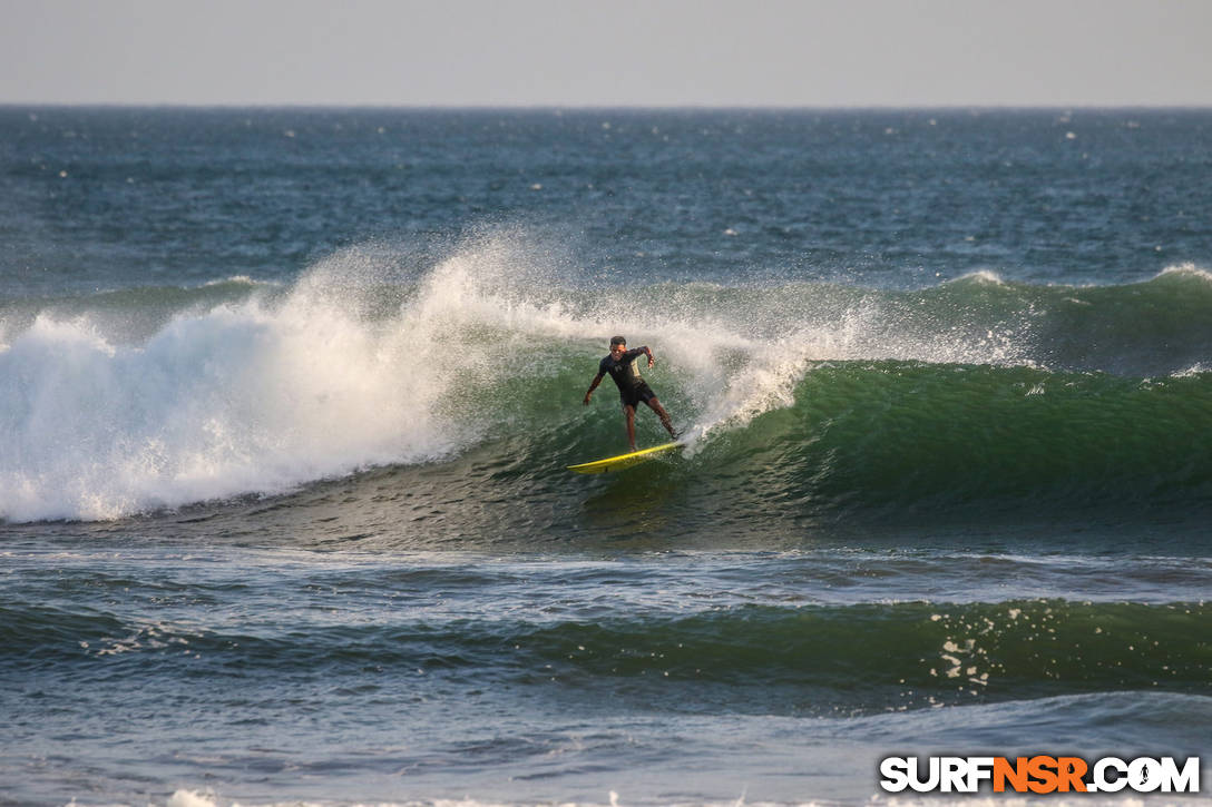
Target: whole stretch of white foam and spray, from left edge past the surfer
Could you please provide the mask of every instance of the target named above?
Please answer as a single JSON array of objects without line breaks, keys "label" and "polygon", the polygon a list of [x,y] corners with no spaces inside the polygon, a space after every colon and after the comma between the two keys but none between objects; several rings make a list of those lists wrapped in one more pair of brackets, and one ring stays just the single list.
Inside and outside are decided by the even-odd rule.
[{"label": "whole stretch of white foam and spray, from left edge past the surfer", "polygon": [[[745,304],[709,286],[573,292],[516,233],[469,242],[384,310],[384,288],[401,286],[381,246],[337,253],[288,291],[182,313],[142,343],[88,317],[0,334],[0,519],[110,520],[447,458],[493,428],[497,384],[558,372],[542,355],[555,345],[604,354],[614,333],[657,353],[646,376],[667,404],[680,391],[670,413],[692,439],[790,406],[819,361],[1016,349],[1013,333],[907,336],[875,296],[835,309],[811,287]],[[587,384],[594,370],[587,359]],[[553,406],[579,410],[582,390]]]}]

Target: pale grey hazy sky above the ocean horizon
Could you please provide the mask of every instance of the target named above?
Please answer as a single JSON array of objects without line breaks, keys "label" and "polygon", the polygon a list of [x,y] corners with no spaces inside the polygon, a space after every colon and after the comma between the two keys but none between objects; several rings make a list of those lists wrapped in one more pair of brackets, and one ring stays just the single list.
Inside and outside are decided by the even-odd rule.
[{"label": "pale grey hazy sky above the ocean horizon", "polygon": [[0,0],[0,103],[1212,105],[1210,0]]}]

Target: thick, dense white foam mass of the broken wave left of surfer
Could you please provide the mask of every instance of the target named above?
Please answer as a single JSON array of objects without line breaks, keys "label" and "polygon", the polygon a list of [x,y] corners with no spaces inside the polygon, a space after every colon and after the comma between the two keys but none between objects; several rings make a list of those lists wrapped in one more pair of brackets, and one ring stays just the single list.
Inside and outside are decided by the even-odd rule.
[{"label": "thick, dense white foam mass of the broken wave left of surfer", "polygon": [[458,291],[435,273],[375,320],[336,275],[326,265],[275,303],[182,314],[137,347],[87,317],[10,334],[0,517],[108,520],[467,446],[475,429],[441,405],[492,367],[445,338]]}]

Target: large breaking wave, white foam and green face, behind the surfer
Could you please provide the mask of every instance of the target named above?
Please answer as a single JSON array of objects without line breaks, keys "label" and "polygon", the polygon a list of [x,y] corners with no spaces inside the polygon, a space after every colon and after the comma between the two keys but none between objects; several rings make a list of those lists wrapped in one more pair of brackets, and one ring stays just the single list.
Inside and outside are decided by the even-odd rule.
[{"label": "large breaking wave, white foam and green face, behind the surfer", "polygon": [[550,482],[551,457],[617,447],[613,408],[576,406],[613,333],[657,351],[688,459],[724,481],[760,463],[765,498],[810,510],[1208,486],[1212,281],[1194,265],[1082,288],[665,284],[623,304],[516,234],[405,277],[390,261],[354,248],[288,288],[5,302],[0,519],[112,520],[473,451]]}]

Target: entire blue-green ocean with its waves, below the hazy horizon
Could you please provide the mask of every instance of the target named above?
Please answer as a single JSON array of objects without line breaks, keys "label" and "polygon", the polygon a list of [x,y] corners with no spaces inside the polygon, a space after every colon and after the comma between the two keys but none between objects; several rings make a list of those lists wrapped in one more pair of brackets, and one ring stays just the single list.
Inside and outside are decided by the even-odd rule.
[{"label": "entire blue-green ocean with its waves, below the hazy horizon", "polygon": [[6,107],[0,245],[0,803],[1212,801],[1212,111]]}]

